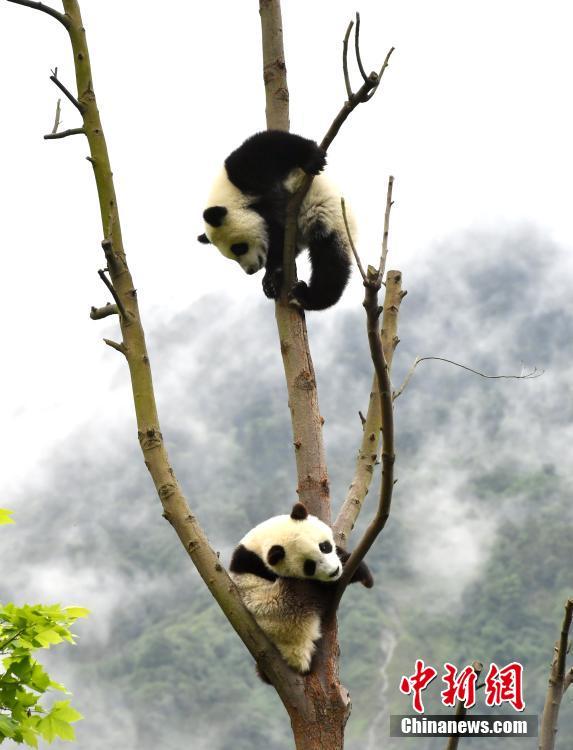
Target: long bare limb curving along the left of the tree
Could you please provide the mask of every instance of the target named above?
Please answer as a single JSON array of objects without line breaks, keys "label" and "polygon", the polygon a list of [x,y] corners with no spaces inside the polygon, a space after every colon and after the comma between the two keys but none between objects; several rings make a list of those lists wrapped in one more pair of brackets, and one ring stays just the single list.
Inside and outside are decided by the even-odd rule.
[{"label": "long bare limb curving along the left of the tree", "polygon": [[[20,2],[20,4],[26,4],[30,7],[39,5],[23,2]],[[264,673],[276,685],[285,706],[291,710],[293,707],[300,707],[301,710],[304,710],[302,678],[286,665],[275,646],[244,606],[238,590],[221,565],[217,553],[210,546],[203,529],[191,513],[170,465],[159,425],[149,356],[139,314],[137,295],[123,247],[115,186],[93,90],[90,56],[80,7],[77,0],[63,0],[63,5],[66,14],[64,25],[68,30],[72,44],[78,90],[78,99],[75,100],[75,97],[72,96],[72,101],[77,101],[79,105],[78,108],[82,114],[90,147],[89,159],[96,180],[104,243],[110,244],[116,259],[116,262],[108,265],[114,299],[120,312],[122,312],[122,308],[125,310],[125,314],[122,312],[119,318],[123,344],[116,344],[116,342],[109,340],[106,343],[120,351],[122,351],[122,347],[124,348],[122,353],[125,354],[129,366],[138,437],[145,464],[161,500],[165,518],[175,529],[181,543],[227,619],[255,660],[261,665]],[[43,7],[38,7],[38,9],[45,10]],[[46,12],[48,11],[46,10]],[[55,12],[51,15],[55,15]],[[61,20],[59,16],[56,17]]]}]

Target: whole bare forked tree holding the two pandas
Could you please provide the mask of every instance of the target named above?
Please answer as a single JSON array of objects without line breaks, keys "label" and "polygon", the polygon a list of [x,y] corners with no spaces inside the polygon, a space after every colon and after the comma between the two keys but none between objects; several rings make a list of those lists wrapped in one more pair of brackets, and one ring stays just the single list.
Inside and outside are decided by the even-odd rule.
[{"label": "whole bare forked tree holding the two pandas", "polygon": [[[175,473],[169,463],[159,424],[149,357],[139,315],[135,284],[126,260],[123,247],[120,216],[107,146],[101,124],[93,86],[89,50],[77,0],[63,0],[63,13],[39,2],[8,0],[51,16],[67,30],[74,56],[77,96],[59,79],[57,70],[51,76],[53,83],[73,103],[81,119],[81,127],[58,132],[58,113],[54,131],[46,139],[60,139],[75,135],[87,138],[96,181],[103,241],[102,248],[106,268],[98,273],[113,298],[113,304],[92,308],[92,318],[100,319],[112,314],[119,318],[122,341],[106,340],[106,344],[121,353],[127,361],[133,387],[134,405],[138,424],[138,436],[146,466],[151,474],[163,504],[163,515],[171,523],[187,550],[211,594],[235,628],[253,657],[259,663],[277,690],[291,718],[295,741],[299,748],[314,748],[328,745],[342,747],[344,725],[350,713],[347,691],[338,681],[338,642],[336,634],[336,608],[344,593],[353,570],[360,563],[377,535],[383,528],[390,510],[393,489],[393,429],[392,394],[389,380],[389,365],[397,344],[396,319],[400,301],[401,274],[389,272],[384,302],[384,345],[380,337],[379,317],[382,308],[378,305],[387,252],[388,219],[391,205],[391,183],[388,193],[384,252],[378,269],[368,268],[363,272],[365,283],[365,307],[370,349],[373,357],[375,378],[370,408],[364,425],[363,449],[357,465],[352,493],[344,503],[340,517],[334,524],[337,538],[347,540],[360,512],[362,501],[368,491],[368,477],[379,451],[379,440],[384,424],[382,463],[383,480],[379,507],[374,521],[351,555],[336,590],[333,605],[324,623],[324,638],[321,642],[317,666],[313,673],[303,679],[293,673],[282,661],[277,650],[258,628],[243,606],[235,587],[211,548],[197,519],[191,512]],[[261,0],[264,78],[267,97],[267,124],[269,127],[288,128],[288,88],[286,66],[282,45],[280,3],[277,0]],[[360,19],[356,18],[355,50],[362,75],[362,85],[353,92],[348,74],[348,41],[351,23],[344,39],[343,70],[348,99],[333,121],[322,141],[327,149],[338,130],[358,104],[367,102],[376,92],[392,50],[379,73],[367,75],[362,65],[359,47]],[[289,221],[285,235],[285,283],[281,299],[276,304],[276,319],[280,339],[285,377],[289,393],[292,418],[293,443],[295,448],[298,494],[310,512],[330,522],[330,497],[328,473],[322,442],[322,418],[318,407],[318,395],[314,378],[312,358],[304,315],[288,304],[287,291],[295,279],[294,246],[296,216],[306,190],[306,180],[289,206]]]}]

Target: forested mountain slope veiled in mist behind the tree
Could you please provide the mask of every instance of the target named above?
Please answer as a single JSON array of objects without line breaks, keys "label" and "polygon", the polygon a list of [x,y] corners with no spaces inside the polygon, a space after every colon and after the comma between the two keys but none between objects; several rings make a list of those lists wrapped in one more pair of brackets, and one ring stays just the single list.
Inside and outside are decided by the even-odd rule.
[{"label": "forested mountain slope veiled in mist behind the tree", "polygon": [[[492,380],[428,361],[396,401],[399,481],[369,558],[376,585],[353,587],[341,611],[351,749],[380,747],[388,713],[409,712],[398,684],[416,658],[436,667],[517,659],[526,713],[541,710],[572,593],[572,280],[564,251],[531,228],[453,238],[404,279],[395,387],[418,355],[492,375],[544,372]],[[308,316],[336,508],[372,378],[360,302]],[[172,463],[225,561],[249,528],[294,499],[273,313],[262,295],[248,303],[210,296],[148,328]],[[127,368],[115,366],[110,403],[131,398]],[[86,717],[78,747],[291,747],[278,699],[161,516],[133,418],[99,414],[32,468],[18,497],[1,503],[17,525],[2,532],[0,598],[91,609],[76,627],[78,645],[48,654]],[[427,698],[436,711],[439,689]],[[571,731],[565,704],[560,734]]]}]

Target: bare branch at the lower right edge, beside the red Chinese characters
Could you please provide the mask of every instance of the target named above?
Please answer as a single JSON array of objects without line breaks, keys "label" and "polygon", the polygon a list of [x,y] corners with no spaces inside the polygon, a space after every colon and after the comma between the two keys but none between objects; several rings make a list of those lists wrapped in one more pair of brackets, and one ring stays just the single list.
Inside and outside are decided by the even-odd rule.
[{"label": "bare branch at the lower right edge, beside the red Chinese characters", "polygon": [[565,603],[565,615],[561,624],[561,634],[559,641],[555,644],[553,660],[551,661],[549,683],[539,729],[539,750],[554,750],[561,700],[565,690],[569,687],[573,679],[573,670],[565,676],[565,660],[572,620],[573,599],[569,599]]}]

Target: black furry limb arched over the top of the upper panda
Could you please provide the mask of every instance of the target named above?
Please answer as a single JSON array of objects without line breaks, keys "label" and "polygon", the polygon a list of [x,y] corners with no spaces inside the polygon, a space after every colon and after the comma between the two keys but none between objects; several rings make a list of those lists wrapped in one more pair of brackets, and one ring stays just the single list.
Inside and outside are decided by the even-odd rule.
[{"label": "black furry limb arched over the top of the upper panda", "polygon": [[225,160],[231,182],[252,195],[266,195],[297,167],[318,174],[326,154],[308,138],[282,130],[265,130],[247,138]]}]

